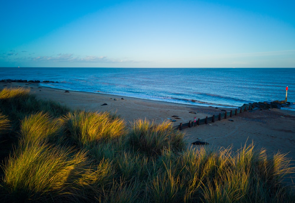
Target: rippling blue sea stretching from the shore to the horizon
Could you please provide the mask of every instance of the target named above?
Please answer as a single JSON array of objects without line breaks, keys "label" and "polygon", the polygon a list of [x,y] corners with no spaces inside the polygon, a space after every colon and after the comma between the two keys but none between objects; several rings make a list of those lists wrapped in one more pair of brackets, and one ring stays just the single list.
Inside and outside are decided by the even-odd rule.
[{"label": "rippling blue sea stretching from the shore to the horizon", "polygon": [[[57,89],[213,107],[286,99],[295,68],[0,68],[1,79],[54,81]],[[56,83],[58,82],[58,83]]]}]

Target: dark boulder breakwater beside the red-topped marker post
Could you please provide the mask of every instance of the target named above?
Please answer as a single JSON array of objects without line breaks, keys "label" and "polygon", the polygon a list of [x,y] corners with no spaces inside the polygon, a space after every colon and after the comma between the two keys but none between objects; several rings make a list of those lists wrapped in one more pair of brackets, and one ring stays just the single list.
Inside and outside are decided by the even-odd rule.
[{"label": "dark boulder breakwater beside the red-topped marker post", "polygon": [[[254,102],[249,104],[244,104],[242,107],[251,106],[252,110],[261,110],[261,109],[281,109],[281,107],[289,107],[290,102],[282,101],[273,101],[273,102]],[[241,108],[242,108],[241,107]]]}]

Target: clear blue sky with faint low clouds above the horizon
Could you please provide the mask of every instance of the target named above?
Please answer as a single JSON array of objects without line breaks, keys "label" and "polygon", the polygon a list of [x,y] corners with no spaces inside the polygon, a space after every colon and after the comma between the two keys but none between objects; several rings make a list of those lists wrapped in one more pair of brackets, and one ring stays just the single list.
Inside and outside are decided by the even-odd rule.
[{"label": "clear blue sky with faint low clouds above the horizon", "polygon": [[295,1],[2,1],[0,67],[295,67]]}]

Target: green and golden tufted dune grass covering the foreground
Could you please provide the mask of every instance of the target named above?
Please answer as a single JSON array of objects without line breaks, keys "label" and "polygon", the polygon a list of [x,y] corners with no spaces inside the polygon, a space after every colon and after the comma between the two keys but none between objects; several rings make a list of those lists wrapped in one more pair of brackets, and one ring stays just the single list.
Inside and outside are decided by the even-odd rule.
[{"label": "green and golden tufted dune grass covering the foreground", "polygon": [[295,202],[294,162],[253,143],[196,150],[171,123],[126,125],[27,89],[1,90],[0,109],[1,202]]}]

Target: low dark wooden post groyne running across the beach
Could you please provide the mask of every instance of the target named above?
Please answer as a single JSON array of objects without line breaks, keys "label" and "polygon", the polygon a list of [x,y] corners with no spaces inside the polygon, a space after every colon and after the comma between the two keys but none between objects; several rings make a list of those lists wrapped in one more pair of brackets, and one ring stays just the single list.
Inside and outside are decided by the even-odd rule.
[{"label": "low dark wooden post groyne running across the beach", "polygon": [[206,116],[206,118],[203,118],[203,119],[195,118],[194,120],[189,121],[188,123],[180,123],[180,125],[175,126],[175,128],[178,130],[182,130],[188,127],[196,127],[202,124],[214,123],[216,121],[220,121],[221,119],[227,119],[234,115],[236,116],[237,114],[242,113],[244,111],[251,110],[252,108],[254,107],[251,105],[246,105],[246,106],[239,107],[238,109],[235,109],[235,110],[225,111],[225,112],[219,113],[218,115],[212,115],[211,117]]}]

